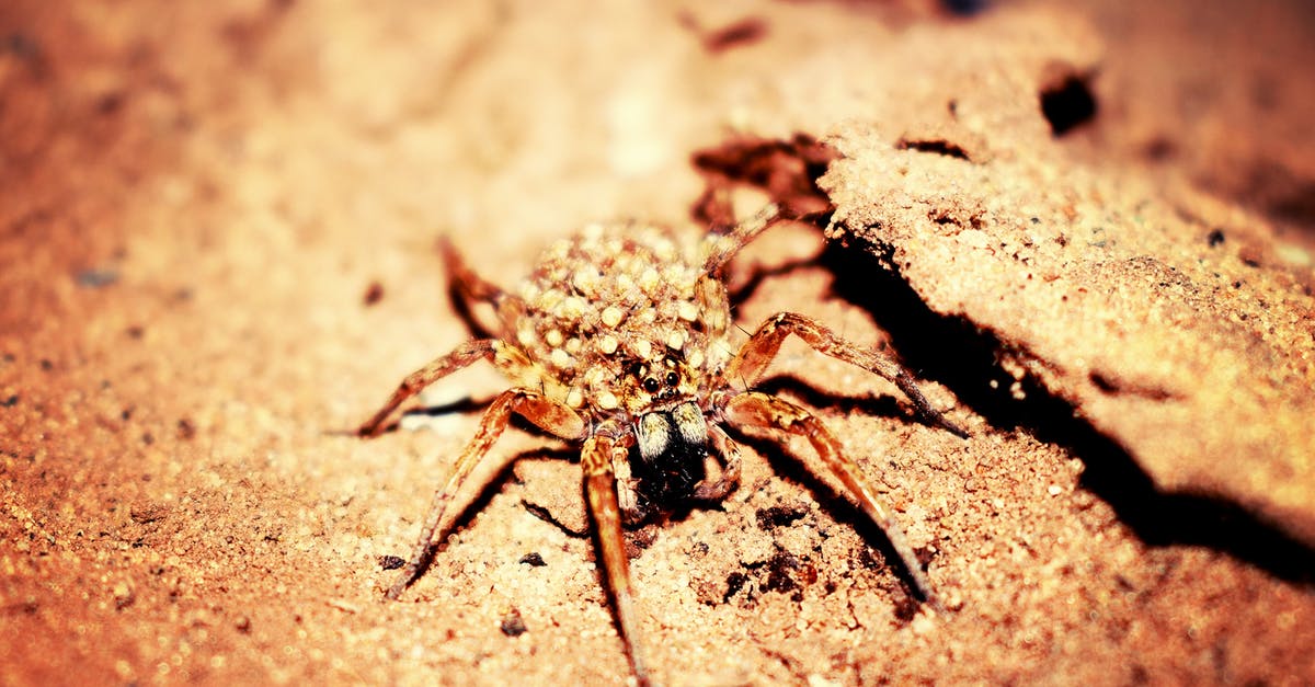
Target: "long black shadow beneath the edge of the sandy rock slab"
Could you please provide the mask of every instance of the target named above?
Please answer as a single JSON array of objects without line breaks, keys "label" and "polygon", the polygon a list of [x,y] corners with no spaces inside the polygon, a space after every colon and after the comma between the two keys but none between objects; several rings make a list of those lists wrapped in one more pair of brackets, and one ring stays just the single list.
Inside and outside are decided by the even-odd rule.
[{"label": "long black shadow beneath the edge of the sandy rock slab", "polygon": [[1014,397],[1015,380],[997,359],[1007,346],[968,320],[932,312],[899,275],[889,246],[828,243],[822,262],[835,276],[834,293],[872,316],[915,376],[943,383],[992,426],[1066,447],[1086,466],[1081,486],[1145,544],[1207,546],[1279,579],[1315,584],[1315,549],[1231,500],[1159,490],[1123,446],[1036,379],[1023,379],[1023,397]]}]

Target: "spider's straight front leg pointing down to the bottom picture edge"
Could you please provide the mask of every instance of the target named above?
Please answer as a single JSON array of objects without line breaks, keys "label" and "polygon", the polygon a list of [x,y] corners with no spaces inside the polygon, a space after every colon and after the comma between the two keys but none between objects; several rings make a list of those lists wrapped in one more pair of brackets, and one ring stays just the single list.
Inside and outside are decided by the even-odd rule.
[{"label": "spider's straight front leg pointing down to the bottom picture edge", "polygon": [[598,534],[598,549],[602,553],[602,567],[608,575],[608,587],[621,625],[622,644],[630,667],[640,686],[650,684],[648,670],[642,657],[643,640],[639,634],[639,619],[634,608],[634,587],[630,583],[630,559],[626,557],[625,540],[621,534],[621,509],[617,505],[617,480],[611,463],[626,447],[610,437],[596,434],[584,442],[580,466],[584,469],[584,487],[589,500],[589,513],[593,516],[594,530]]}]

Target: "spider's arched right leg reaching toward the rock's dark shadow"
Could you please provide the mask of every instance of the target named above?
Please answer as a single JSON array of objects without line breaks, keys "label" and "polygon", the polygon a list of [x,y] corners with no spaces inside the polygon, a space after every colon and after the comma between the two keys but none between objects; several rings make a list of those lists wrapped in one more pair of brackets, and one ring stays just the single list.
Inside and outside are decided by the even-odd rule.
[{"label": "spider's arched right leg reaching toward the rock's dark shadow", "polygon": [[918,388],[913,375],[902,365],[872,349],[840,338],[811,317],[793,312],[781,312],[768,317],[740,347],[727,366],[723,378],[729,382],[743,382],[747,388],[752,388],[781,350],[781,342],[790,334],[802,338],[818,353],[856,365],[894,382],[928,422],[940,425],[960,438],[968,438],[968,432],[947,420],[940,411],[931,405],[931,401]]}]

